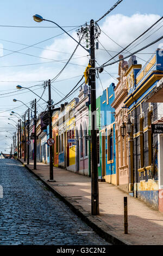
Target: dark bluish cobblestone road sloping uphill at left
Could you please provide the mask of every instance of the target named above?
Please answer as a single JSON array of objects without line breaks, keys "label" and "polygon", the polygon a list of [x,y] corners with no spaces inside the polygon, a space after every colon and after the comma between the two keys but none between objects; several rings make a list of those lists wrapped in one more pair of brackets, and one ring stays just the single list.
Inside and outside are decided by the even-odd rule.
[{"label": "dark bluish cobblestone road sloping uphill at left", "polygon": [[0,159],[0,185],[0,245],[109,245],[16,160]]}]

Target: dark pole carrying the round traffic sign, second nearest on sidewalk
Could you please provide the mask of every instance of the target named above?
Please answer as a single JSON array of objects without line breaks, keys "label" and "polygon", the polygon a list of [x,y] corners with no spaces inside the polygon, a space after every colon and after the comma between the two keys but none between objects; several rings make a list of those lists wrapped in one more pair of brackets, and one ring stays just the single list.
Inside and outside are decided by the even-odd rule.
[{"label": "dark pole carrying the round traffic sign, second nearest on sidewalk", "polygon": [[[49,92],[49,100],[48,100],[48,108],[49,108],[49,138],[52,138],[52,98],[51,98],[51,80],[48,80],[48,92]],[[50,155],[50,163],[49,163],[49,180],[54,182],[53,180],[53,147],[49,146],[49,155]]]}]

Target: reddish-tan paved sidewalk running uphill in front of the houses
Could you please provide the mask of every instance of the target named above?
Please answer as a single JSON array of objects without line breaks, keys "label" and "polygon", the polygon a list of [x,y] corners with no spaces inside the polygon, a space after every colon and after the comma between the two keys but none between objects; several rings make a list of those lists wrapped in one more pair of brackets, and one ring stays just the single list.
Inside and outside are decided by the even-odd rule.
[{"label": "reddish-tan paved sidewalk running uphill in front of the houses", "polygon": [[[56,182],[47,182],[49,165],[37,163],[37,170],[33,170],[33,163],[30,162],[28,168],[65,200],[71,202],[77,210],[83,212],[92,225],[97,224],[98,230],[108,232],[110,240],[115,236],[122,240],[122,243],[125,241],[131,245],[163,245],[163,213],[146,206],[139,199],[130,197],[112,184],[99,182],[100,215],[91,216],[90,177],[54,167]],[[129,231],[127,235],[124,234],[123,228],[123,197],[126,196]]]}]

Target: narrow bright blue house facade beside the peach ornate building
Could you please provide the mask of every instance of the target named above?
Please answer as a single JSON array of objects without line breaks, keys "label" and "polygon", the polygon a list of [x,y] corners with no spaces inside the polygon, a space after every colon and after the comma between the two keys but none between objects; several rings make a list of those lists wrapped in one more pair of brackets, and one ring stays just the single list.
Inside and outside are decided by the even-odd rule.
[{"label": "narrow bright blue house facade beside the peach ornate building", "polygon": [[115,112],[111,107],[115,99],[114,88],[115,85],[110,84],[100,97],[99,164],[101,165],[101,178],[104,178],[106,182],[116,184]]}]

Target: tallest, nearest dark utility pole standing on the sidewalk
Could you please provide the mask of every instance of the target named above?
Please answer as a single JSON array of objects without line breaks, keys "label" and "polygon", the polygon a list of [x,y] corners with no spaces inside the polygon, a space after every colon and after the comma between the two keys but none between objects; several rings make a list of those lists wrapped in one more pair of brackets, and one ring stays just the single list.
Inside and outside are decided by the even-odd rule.
[{"label": "tallest, nearest dark utility pole standing on the sidewalk", "polygon": [[[91,68],[95,68],[95,24],[90,21]],[[91,214],[99,215],[97,126],[96,126],[96,70],[91,70]]]}]

